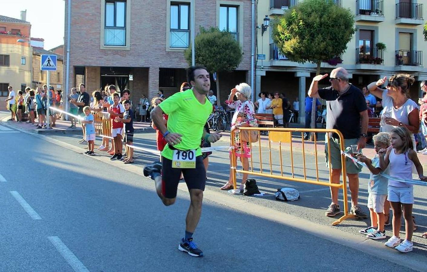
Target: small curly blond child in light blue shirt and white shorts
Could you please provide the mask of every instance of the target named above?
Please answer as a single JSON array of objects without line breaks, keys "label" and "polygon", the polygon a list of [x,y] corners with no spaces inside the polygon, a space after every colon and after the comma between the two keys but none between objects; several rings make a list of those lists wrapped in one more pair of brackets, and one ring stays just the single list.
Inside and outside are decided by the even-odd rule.
[{"label": "small curly blond child in light blue shirt and white shorts", "polygon": [[[377,155],[371,160],[360,154],[358,160],[364,162],[371,171],[368,184],[368,208],[371,215],[371,226],[366,229],[361,229],[359,232],[365,234],[370,239],[386,239],[386,231],[384,230],[384,202],[387,198],[387,184],[389,179],[380,175],[380,158],[378,151],[387,149],[390,146],[389,133],[380,132],[373,137],[374,148]],[[384,174],[389,174],[389,168],[384,171]]]}]

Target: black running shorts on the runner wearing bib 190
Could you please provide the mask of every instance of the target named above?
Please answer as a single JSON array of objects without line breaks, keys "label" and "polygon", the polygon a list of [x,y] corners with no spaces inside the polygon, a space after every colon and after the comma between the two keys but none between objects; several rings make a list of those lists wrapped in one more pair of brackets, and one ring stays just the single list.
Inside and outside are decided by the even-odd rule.
[{"label": "black running shorts on the runner wearing bib 190", "polygon": [[188,190],[205,190],[206,169],[202,156],[196,157],[196,168],[172,168],[172,160],[162,157],[162,193],[166,198],[175,198],[181,172]]}]

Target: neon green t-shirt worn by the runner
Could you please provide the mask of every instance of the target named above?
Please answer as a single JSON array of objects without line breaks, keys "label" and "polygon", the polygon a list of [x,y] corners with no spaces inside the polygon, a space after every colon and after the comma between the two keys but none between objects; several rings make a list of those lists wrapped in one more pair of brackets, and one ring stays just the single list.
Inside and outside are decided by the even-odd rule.
[{"label": "neon green t-shirt worn by the runner", "polygon": [[[208,98],[205,104],[200,104],[193,90],[175,93],[159,104],[159,107],[168,115],[167,130],[170,133],[181,134],[181,142],[173,147],[179,150],[196,149],[196,156],[201,156],[200,143],[203,127],[212,113],[212,104]],[[166,145],[162,156],[173,158],[173,150]]]}]

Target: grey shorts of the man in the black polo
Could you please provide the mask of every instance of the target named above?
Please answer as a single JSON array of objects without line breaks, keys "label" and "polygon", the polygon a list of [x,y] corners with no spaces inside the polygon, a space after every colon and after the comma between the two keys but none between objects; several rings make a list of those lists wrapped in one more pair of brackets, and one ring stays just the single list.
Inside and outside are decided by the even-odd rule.
[{"label": "grey shorts of the man in the black polo", "polygon": [[[328,165],[328,141],[330,142],[330,164],[332,169],[341,169],[341,148],[339,146],[339,139],[325,137],[325,155],[326,155],[326,164]],[[359,139],[344,139],[344,150],[351,145],[357,145]],[[345,159],[345,170],[347,174],[359,174],[362,171],[362,166],[354,165],[354,162],[351,159]]]}]

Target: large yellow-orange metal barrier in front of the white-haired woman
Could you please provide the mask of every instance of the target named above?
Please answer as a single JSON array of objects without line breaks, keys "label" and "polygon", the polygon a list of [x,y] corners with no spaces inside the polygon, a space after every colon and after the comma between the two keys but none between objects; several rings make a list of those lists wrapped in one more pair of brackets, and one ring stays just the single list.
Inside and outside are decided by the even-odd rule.
[{"label": "large yellow-orange metal barrier in front of the white-haired woman", "polygon": [[[319,166],[318,166],[318,159],[317,159],[317,139],[316,139],[316,133],[336,133],[339,136],[340,140],[340,149],[344,151],[345,147],[343,144],[344,137],[342,136],[342,133],[339,130],[335,129],[308,129],[308,128],[268,128],[268,127],[239,127],[240,131],[248,130],[249,134],[250,132],[256,132],[258,134],[258,140],[255,143],[259,146],[259,171],[254,171],[254,156],[252,152],[252,141],[251,137],[249,137],[249,144],[248,147],[251,149],[250,157],[250,171],[248,170],[238,170],[237,164],[235,162],[237,161],[236,153],[231,152],[232,156],[232,162],[231,162],[231,169],[232,169],[232,176],[233,176],[233,186],[234,189],[237,189],[236,185],[236,174],[250,174],[250,175],[256,175],[260,177],[268,177],[268,178],[275,178],[275,179],[282,179],[282,180],[289,180],[289,181],[295,181],[295,182],[304,182],[309,184],[315,184],[315,185],[322,185],[322,186],[329,186],[330,188],[339,188],[342,189],[343,192],[343,202],[344,202],[344,215],[340,217],[338,220],[334,221],[332,225],[337,225],[341,223],[343,220],[346,220],[348,218],[354,218],[355,216],[348,213],[348,195],[347,195],[347,172],[345,169],[345,156],[344,154],[341,154],[341,173],[342,173],[342,183],[331,183],[331,177],[332,177],[332,169],[330,164],[330,141],[328,141],[328,168],[329,168],[329,182],[324,182],[319,180]],[[238,130],[237,130],[238,131]],[[268,131],[269,133],[269,140],[268,140],[268,151],[269,151],[269,171],[263,170],[263,162],[262,162],[262,151],[266,151],[265,148],[261,150],[261,131]],[[294,169],[294,158],[293,158],[293,146],[292,146],[292,133],[301,133],[301,141],[302,141],[302,163],[303,163],[303,176],[304,178],[295,177],[295,169]],[[314,156],[315,156],[315,165],[316,165],[316,179],[309,179],[307,177],[306,173],[306,151],[304,149],[304,133],[310,133],[314,132]],[[239,133],[239,132],[237,132]],[[235,145],[235,135],[236,130],[231,132],[231,146]],[[240,152],[243,153],[243,142],[241,137],[240,138]],[[280,174],[275,174],[273,172],[273,165],[272,165],[272,142],[278,143],[278,152],[280,155]],[[290,145],[290,168],[291,171],[288,175],[284,173],[283,171],[283,160],[282,160],[282,144],[287,143]],[[322,144],[323,145],[323,144]],[[277,162],[277,161],[276,161]],[[266,163],[264,163],[265,165]],[[289,165],[286,165],[289,166]]]}]

